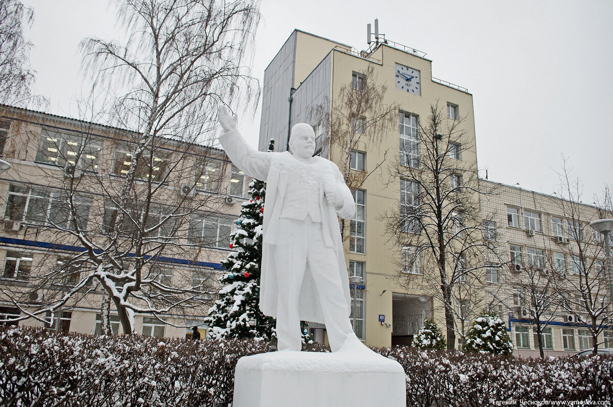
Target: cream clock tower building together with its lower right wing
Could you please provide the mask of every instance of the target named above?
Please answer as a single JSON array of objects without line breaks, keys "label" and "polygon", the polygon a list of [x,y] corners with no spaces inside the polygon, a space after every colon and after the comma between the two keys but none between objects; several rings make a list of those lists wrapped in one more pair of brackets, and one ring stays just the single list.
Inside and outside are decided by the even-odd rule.
[{"label": "cream clock tower building together with its lower right wing", "polygon": [[[368,81],[373,81],[376,86],[386,86],[381,104],[397,107],[394,113],[397,124],[383,135],[375,136],[364,131],[364,137],[352,146],[351,160],[347,161],[341,143],[330,142],[333,118],[328,126],[322,126],[321,115],[314,114],[314,110],[327,112],[330,116],[342,115],[343,94],[346,95],[348,89],[356,93],[363,91],[367,73]],[[351,173],[368,174],[358,188],[353,188],[357,213],[350,221],[345,250],[348,273],[357,280],[362,278],[351,291],[354,330],[369,345],[410,343],[424,318],[431,316],[440,327],[445,325],[443,303],[440,297],[432,294],[432,287],[425,290],[420,289],[419,284],[402,281],[403,271],[406,275],[424,275],[428,270],[419,270],[421,266],[417,262],[407,267],[399,256],[402,257],[402,251],[410,248],[402,248],[399,253],[399,248],[393,247],[384,221],[385,215],[394,213],[401,201],[410,202],[418,192],[410,179],[394,177],[389,169],[412,167],[412,163],[424,158],[424,149],[429,145],[425,143],[419,124],[427,121],[433,105],[438,105],[443,112],[443,121],[457,126],[457,134],[461,135],[454,140],[453,146],[447,146],[446,155],[457,163],[455,167],[467,170],[466,178],[469,175],[474,177],[477,155],[472,95],[465,88],[432,77],[432,61],[421,51],[383,37],[373,42],[368,50],[357,51],[349,45],[295,30],[264,73],[259,135],[261,150],[265,150],[270,139],[275,139],[278,151],[287,150],[291,127],[295,123],[308,123],[318,137],[316,154],[334,161],[341,172],[349,164]],[[351,120],[350,115],[345,117]],[[357,118],[357,131],[354,129],[354,132],[360,132],[359,123],[364,126],[369,119],[365,116]],[[462,191],[462,173],[452,174],[449,179],[451,189]],[[480,311],[497,312],[509,323],[516,353],[533,354],[535,347],[530,318],[521,315],[527,312],[522,306],[524,297],[513,294],[514,281],[521,281],[522,275],[516,269],[511,272],[509,264],[516,267],[517,256],[521,256],[526,264],[530,264],[531,270],[536,270],[538,262],[541,259],[544,262],[547,257],[546,252],[549,257],[553,256],[554,262],[562,262],[562,251],[556,248],[573,246],[572,239],[567,243],[568,235],[563,236],[561,232],[568,230],[569,215],[560,210],[564,207],[563,200],[555,197],[477,180],[476,177],[473,180],[472,188],[480,188],[480,181],[483,191],[488,191],[487,196],[480,199],[475,193],[472,199],[479,218],[476,220],[480,223],[487,219],[479,235],[482,232],[494,250],[487,258],[476,259],[482,262],[481,268],[476,268],[481,270],[480,275],[472,273],[476,284],[473,291],[477,292],[471,298],[454,303],[454,312],[465,318],[463,325],[466,329]],[[470,192],[465,188],[463,193]],[[582,213],[583,226],[588,219],[602,216],[596,208],[588,205],[577,208]],[[505,216],[508,216],[509,224]],[[457,226],[462,227],[462,221]],[[573,256],[569,251],[563,257],[568,267],[573,264]],[[600,254],[596,257],[599,256],[603,257]],[[459,256],[456,267],[461,263]],[[542,267],[539,273],[546,273],[546,270],[551,268]],[[470,283],[461,275],[458,281]],[[572,280],[567,282],[572,283]],[[560,281],[555,285],[558,289],[562,287]],[[548,289],[554,291],[553,286]],[[601,292],[607,292],[606,286]],[[474,304],[468,306],[465,301]],[[584,349],[590,343],[585,329],[580,327],[581,322],[575,323],[576,318],[583,315],[579,310],[579,300],[567,302],[565,306],[572,306],[574,310],[554,310],[552,304],[547,312],[542,313],[542,318],[545,318],[543,342],[550,354]],[[316,327],[316,338],[321,329]],[[598,340],[606,340],[611,346],[610,335],[611,331],[606,330]],[[461,346],[460,341],[456,346]]]}]

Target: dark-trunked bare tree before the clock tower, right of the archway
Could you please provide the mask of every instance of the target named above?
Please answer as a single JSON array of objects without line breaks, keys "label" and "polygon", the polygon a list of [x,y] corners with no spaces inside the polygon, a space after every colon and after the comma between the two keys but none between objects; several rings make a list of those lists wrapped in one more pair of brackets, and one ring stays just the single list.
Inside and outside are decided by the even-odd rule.
[{"label": "dark-trunked bare tree before the clock tower, right of the archway", "polygon": [[400,284],[417,284],[443,303],[452,349],[468,317],[454,302],[468,299],[466,288],[484,281],[484,259],[497,257],[493,243],[483,238],[479,194],[486,192],[479,191],[476,163],[461,159],[471,149],[462,120],[447,120],[436,104],[425,123],[408,113],[400,112],[400,118],[400,158],[390,173],[390,180],[400,183],[400,203],[382,218],[390,241],[409,254],[406,264],[422,265],[422,274],[398,273]]}]

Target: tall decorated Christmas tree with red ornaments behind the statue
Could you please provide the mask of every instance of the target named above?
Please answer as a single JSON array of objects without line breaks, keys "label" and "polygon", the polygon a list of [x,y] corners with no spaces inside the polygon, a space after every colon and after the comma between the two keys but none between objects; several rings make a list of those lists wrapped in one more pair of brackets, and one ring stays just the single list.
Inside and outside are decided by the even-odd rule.
[{"label": "tall decorated Christmas tree with red ornaments behind the statue", "polygon": [[[270,140],[268,151],[273,151]],[[249,199],[243,202],[237,227],[230,236],[233,251],[221,265],[226,272],[219,299],[208,310],[205,322],[210,338],[262,338],[275,337],[275,319],[262,314],[259,309],[260,265],[262,261],[262,220],[266,183],[253,180],[249,183]]]}]

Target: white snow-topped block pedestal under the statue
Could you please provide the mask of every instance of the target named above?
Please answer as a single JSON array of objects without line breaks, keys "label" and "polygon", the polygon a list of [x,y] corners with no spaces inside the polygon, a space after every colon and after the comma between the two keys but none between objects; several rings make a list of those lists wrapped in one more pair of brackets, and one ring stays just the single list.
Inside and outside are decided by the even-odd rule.
[{"label": "white snow-topped block pedestal under the statue", "polygon": [[252,406],[405,407],[405,371],[370,349],[244,356],[236,367],[232,407]]}]

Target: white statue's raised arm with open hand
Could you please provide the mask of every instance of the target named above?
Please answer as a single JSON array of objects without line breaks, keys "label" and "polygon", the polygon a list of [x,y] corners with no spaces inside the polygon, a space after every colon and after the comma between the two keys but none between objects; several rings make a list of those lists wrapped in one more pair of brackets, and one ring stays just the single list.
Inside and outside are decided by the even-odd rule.
[{"label": "white statue's raised arm with open hand", "polygon": [[237,116],[230,116],[226,108],[219,108],[217,120],[223,129],[219,135],[219,143],[223,146],[232,164],[251,178],[266,180],[272,154],[251,148],[236,128]]}]

